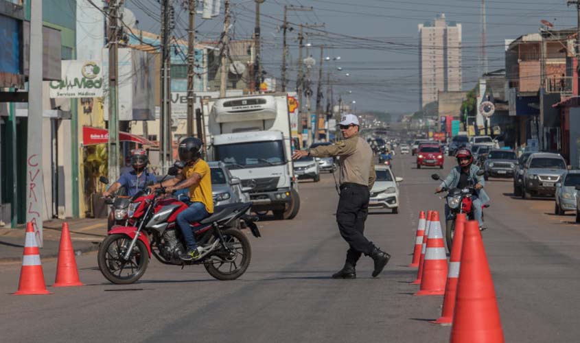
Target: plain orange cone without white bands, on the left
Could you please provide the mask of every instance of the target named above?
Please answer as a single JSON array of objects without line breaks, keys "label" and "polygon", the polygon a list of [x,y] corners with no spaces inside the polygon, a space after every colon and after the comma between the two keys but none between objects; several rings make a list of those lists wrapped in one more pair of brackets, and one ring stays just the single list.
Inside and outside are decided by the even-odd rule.
[{"label": "plain orange cone without white bands, on the left", "polygon": [[78,279],[75,252],[69,224],[62,223],[62,233],[60,233],[60,246],[58,247],[58,264],[56,265],[56,280],[53,287],[82,286]]}]

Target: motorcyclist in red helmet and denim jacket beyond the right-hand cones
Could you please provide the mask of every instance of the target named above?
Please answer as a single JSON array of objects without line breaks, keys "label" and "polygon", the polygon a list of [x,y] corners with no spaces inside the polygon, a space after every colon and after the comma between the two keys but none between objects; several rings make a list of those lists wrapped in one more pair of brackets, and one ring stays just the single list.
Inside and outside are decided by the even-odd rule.
[{"label": "motorcyclist in red helmet and denim jacket beyond the right-hand cones", "polygon": [[[435,191],[437,193],[443,190],[443,187],[448,189],[459,188],[463,189],[473,185],[476,189],[476,194],[472,195],[472,209],[474,212],[474,219],[479,222],[480,230],[485,230],[482,218],[482,204],[489,202],[487,193],[483,190],[485,180],[483,176],[478,176],[479,167],[473,164],[473,154],[469,149],[461,148],[456,156],[458,165],[451,169],[450,174],[441,182]],[[445,204],[445,218],[449,216],[449,206]]]}]

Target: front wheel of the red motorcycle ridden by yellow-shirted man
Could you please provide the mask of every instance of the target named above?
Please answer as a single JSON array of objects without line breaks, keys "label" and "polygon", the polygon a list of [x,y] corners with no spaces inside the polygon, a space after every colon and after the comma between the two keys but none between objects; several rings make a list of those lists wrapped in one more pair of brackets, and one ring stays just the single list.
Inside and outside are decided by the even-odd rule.
[{"label": "front wheel of the red motorcycle ridden by yellow-shirted man", "polygon": [[131,240],[127,235],[109,235],[102,241],[97,262],[101,273],[108,281],[126,285],[134,283],[145,274],[149,252],[140,239],[135,243],[129,259],[124,259]]}]

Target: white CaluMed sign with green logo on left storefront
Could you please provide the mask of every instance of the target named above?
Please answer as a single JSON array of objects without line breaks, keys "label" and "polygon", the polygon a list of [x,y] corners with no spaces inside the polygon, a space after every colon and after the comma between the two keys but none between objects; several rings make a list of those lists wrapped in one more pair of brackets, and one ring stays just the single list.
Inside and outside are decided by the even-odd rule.
[{"label": "white CaluMed sign with green logo on left storefront", "polygon": [[60,80],[49,82],[50,97],[102,97],[103,73],[98,60],[62,60]]}]

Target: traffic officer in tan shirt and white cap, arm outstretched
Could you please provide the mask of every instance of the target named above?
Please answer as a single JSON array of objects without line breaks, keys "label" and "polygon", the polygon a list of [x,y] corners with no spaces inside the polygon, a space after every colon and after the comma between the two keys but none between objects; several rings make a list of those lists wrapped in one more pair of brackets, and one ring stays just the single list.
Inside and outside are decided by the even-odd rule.
[{"label": "traffic officer in tan shirt and white cap, arm outstretched", "polygon": [[360,129],[356,115],[343,115],[339,123],[345,138],[332,145],[318,145],[308,150],[297,150],[292,158],[304,156],[340,156],[340,200],[336,210],[336,222],[340,235],[349,244],[347,260],[342,270],[332,275],[333,279],[356,279],[355,266],[360,255],[371,257],[375,264],[373,277],[382,272],[391,258],[364,237],[364,221],[369,211],[370,189],[375,183],[373,150],[369,143],[358,135]]}]

